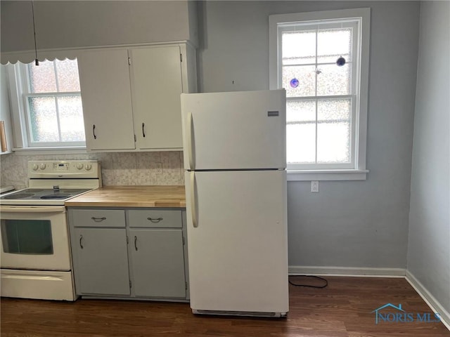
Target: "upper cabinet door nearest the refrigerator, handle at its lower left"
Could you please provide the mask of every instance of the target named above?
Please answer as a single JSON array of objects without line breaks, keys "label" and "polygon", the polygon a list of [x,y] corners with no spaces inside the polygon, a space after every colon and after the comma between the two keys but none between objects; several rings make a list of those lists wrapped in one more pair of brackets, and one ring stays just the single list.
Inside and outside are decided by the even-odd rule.
[{"label": "upper cabinet door nearest the refrigerator, handle at its lower left", "polygon": [[140,149],[182,149],[179,46],[129,50],[134,128]]}]

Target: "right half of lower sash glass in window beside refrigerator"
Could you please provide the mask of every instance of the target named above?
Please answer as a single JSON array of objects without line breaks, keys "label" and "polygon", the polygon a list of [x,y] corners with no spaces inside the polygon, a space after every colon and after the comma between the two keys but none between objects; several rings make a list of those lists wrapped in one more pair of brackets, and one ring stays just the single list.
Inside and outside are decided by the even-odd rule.
[{"label": "right half of lower sash glass in window beside refrigerator", "polygon": [[319,100],[317,103],[318,163],[349,163],[351,150],[350,99]]}]

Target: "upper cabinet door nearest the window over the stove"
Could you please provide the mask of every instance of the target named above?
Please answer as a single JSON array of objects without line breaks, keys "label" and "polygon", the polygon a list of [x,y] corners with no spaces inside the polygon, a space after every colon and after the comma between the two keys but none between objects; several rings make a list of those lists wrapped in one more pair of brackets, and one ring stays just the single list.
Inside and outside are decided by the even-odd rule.
[{"label": "upper cabinet door nearest the window over the stove", "polygon": [[127,49],[85,51],[78,70],[87,150],[134,149]]}]

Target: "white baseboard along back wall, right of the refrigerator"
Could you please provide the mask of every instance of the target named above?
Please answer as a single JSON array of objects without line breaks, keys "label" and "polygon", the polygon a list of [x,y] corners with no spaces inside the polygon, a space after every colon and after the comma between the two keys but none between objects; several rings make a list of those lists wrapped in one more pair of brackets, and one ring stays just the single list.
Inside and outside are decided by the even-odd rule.
[{"label": "white baseboard along back wall, right of the refrigerator", "polygon": [[290,265],[289,275],[328,275],[352,277],[405,277],[404,268],[309,267]]}]

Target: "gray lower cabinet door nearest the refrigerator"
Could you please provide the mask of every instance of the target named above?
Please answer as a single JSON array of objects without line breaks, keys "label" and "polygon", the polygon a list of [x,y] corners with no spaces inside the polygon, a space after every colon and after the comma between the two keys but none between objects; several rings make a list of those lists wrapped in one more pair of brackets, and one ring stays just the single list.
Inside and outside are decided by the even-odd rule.
[{"label": "gray lower cabinet door nearest the refrigerator", "polygon": [[136,296],[185,298],[181,230],[131,229],[129,249]]}]

